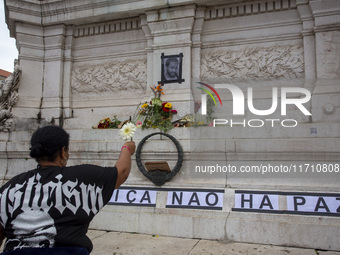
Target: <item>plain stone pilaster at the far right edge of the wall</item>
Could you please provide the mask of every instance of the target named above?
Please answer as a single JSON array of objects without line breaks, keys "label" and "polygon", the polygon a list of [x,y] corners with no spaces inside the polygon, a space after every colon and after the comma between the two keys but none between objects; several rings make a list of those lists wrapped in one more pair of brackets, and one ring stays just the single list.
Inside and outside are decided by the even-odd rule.
[{"label": "plain stone pilaster at the far right edge of the wall", "polygon": [[339,122],[340,1],[309,1],[314,18],[316,85],[312,97],[313,122]]}]

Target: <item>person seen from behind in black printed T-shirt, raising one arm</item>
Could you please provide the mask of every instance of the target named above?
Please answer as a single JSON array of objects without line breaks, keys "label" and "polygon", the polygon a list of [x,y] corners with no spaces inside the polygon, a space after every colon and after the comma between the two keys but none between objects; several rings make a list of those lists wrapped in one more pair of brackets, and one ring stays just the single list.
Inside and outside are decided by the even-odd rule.
[{"label": "person seen from behind in black printed T-shirt, raising one arm", "polygon": [[93,217],[129,176],[136,146],[126,142],[112,167],[67,167],[69,134],[45,126],[31,137],[30,156],[38,166],[0,188],[0,240],[4,255],[87,255]]}]

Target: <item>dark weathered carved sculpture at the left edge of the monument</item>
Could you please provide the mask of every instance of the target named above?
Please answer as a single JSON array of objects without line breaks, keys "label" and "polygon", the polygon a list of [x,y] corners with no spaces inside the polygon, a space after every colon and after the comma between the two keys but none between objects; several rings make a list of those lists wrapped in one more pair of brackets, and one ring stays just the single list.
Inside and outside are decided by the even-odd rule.
[{"label": "dark weathered carved sculpture at the left edge of the monument", "polygon": [[22,68],[14,61],[14,72],[0,85],[0,130],[9,131],[12,126],[12,107],[18,101],[18,86]]}]

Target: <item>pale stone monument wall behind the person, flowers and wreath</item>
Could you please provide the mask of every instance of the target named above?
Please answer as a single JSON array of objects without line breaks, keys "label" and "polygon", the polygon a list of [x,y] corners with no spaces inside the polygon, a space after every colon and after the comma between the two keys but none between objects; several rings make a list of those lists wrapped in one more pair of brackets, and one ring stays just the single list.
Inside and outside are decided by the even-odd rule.
[{"label": "pale stone monument wall behind the person, flowers and wreath", "polygon": [[[6,166],[1,169],[2,181],[35,166],[28,156],[29,137],[50,122],[63,125],[71,135],[70,164],[112,165],[121,146],[118,131],[92,126],[104,117],[131,116],[152,96],[149,86],[161,79],[161,54],[183,53],[184,82],[165,84],[163,97],[173,102],[180,116],[192,113],[200,98],[198,81],[234,84],[244,94],[251,87],[257,109],[270,107],[274,87],[304,88],[312,95],[304,104],[312,115],[290,106],[286,117],[278,109],[270,118],[295,119],[294,128],[279,121],[275,127],[267,123],[255,129],[242,124],[173,129],[170,134],[184,151],[181,171],[160,188],[134,163],[125,184],[133,190],[131,199],[144,189],[156,192],[156,202],[131,206],[117,205],[113,199],[116,206],[106,206],[91,226],[339,250],[339,212],[333,208],[340,192],[339,173],[264,177],[194,172],[196,165],[207,162],[249,166],[339,162],[339,6],[338,0],[6,1],[6,22],[17,41],[22,77],[12,130],[0,133],[0,162]],[[248,110],[235,118],[231,94],[219,92],[223,107],[215,106],[216,118],[239,123],[259,119]],[[134,139],[138,143],[154,131],[139,130]],[[171,168],[177,160],[175,148],[164,137],[148,142],[142,157],[165,159]],[[212,201],[205,200],[207,208],[173,207],[168,199],[175,191],[223,191],[222,206],[211,208]],[[238,207],[242,194],[247,205],[250,195],[277,199],[277,208],[262,200],[267,211],[260,210],[263,206],[247,211]],[[290,211],[291,197],[301,207],[301,197],[317,197],[313,206],[318,210]],[[333,206],[329,213],[326,198],[335,201],[329,202]],[[193,203],[198,198],[191,199]]]}]

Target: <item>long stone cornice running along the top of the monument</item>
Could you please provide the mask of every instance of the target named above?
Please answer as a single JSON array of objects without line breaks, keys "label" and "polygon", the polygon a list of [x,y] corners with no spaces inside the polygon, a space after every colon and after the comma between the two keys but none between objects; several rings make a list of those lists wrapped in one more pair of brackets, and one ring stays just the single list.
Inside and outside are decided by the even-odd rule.
[{"label": "long stone cornice running along the top of the monument", "polygon": [[[11,0],[6,1],[6,22],[11,36],[15,36],[15,22],[33,25],[49,26],[66,24],[81,26],[107,22],[109,20],[133,18],[149,11],[164,10],[168,7],[204,5],[207,6],[205,20],[253,15],[263,12],[295,9],[297,4],[309,3],[314,17],[339,15],[339,0],[309,1],[288,0],[285,2],[273,0],[258,0],[241,2],[236,0]],[[184,7],[185,9],[185,7]],[[310,18],[310,17],[309,17]],[[316,26],[324,26],[321,24]]]}]

